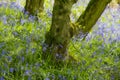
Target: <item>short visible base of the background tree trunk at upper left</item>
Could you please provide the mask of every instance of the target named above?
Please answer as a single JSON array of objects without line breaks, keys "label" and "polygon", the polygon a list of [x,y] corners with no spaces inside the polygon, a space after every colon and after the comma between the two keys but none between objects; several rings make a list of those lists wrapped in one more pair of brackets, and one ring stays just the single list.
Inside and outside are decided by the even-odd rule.
[{"label": "short visible base of the background tree trunk at upper left", "polygon": [[30,15],[37,15],[43,11],[44,0],[26,0],[25,11]]}]

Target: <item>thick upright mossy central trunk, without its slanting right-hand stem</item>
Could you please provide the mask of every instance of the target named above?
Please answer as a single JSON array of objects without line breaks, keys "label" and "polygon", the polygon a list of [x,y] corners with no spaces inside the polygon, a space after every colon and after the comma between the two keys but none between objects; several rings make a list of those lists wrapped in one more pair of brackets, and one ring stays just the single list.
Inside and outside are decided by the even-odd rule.
[{"label": "thick upright mossy central trunk, without its slanting right-hand stem", "polygon": [[[46,55],[52,55],[52,58],[59,62],[66,60],[67,47],[70,41],[70,13],[72,5],[76,0],[55,0],[53,7],[52,25],[50,31],[46,34],[44,47],[47,47]],[[48,54],[50,53],[50,54]]]}]

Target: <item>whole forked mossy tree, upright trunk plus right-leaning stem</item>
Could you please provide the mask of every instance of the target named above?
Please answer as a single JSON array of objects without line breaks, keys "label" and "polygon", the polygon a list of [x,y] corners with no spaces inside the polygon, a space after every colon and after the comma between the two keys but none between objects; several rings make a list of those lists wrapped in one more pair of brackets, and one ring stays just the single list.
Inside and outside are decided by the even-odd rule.
[{"label": "whole forked mossy tree, upright trunk plus right-leaning stem", "polygon": [[77,22],[71,24],[69,15],[71,7],[76,1],[55,0],[52,25],[50,31],[46,34],[45,44],[43,45],[44,58],[52,55],[54,61],[66,60],[70,39],[79,33],[87,34],[111,0],[91,0]]}]

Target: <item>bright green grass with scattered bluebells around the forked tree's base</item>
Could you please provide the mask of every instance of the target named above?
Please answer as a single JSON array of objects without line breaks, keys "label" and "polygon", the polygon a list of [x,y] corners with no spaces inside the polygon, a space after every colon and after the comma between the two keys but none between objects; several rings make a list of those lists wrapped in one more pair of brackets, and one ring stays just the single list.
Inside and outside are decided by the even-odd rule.
[{"label": "bright green grass with scattered bluebells around the forked tree's base", "polygon": [[120,43],[105,43],[101,35],[71,40],[69,52],[76,64],[59,68],[44,62],[41,47],[51,25],[47,14],[36,21],[19,10],[0,7],[0,80],[120,79]]}]

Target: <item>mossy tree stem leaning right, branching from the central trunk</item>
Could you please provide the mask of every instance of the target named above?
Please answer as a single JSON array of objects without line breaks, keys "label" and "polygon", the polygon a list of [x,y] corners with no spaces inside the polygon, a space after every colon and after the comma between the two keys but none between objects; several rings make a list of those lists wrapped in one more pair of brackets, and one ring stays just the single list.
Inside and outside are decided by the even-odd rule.
[{"label": "mossy tree stem leaning right, branching from the central trunk", "polygon": [[79,19],[74,23],[73,32],[85,38],[95,25],[111,0],[91,0]]}]

